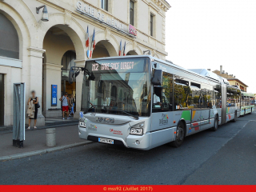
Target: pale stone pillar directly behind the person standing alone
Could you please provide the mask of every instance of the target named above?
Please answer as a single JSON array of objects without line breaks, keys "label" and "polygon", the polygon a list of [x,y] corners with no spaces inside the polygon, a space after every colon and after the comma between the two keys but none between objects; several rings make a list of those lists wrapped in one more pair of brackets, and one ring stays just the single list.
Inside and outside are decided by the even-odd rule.
[{"label": "pale stone pillar directly behind the person standing alone", "polygon": [[[28,50],[30,52],[30,73],[27,75],[30,75],[30,87],[26,90],[34,90],[36,92],[36,96],[38,97],[38,101],[42,106],[42,54],[46,50],[38,49],[32,46],[30,46]],[[28,118],[26,118],[26,122],[27,120]],[[31,126],[33,125],[34,122],[31,123]],[[38,109],[37,126],[45,126],[45,117],[42,115],[42,107]]]}]

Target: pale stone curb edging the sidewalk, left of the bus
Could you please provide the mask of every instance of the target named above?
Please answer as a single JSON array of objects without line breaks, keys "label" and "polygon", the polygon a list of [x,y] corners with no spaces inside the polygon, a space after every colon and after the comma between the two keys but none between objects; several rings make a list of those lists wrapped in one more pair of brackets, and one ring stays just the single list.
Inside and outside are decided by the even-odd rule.
[{"label": "pale stone curb edging the sidewalk, left of the bus", "polygon": [[50,149],[45,149],[45,150],[34,150],[31,152],[26,152],[26,153],[22,153],[22,154],[12,154],[12,155],[8,155],[8,156],[0,157],[0,162],[14,160],[17,158],[26,158],[26,157],[30,157],[30,156],[34,156],[34,155],[38,155],[38,154],[51,153],[51,152],[58,151],[58,150],[66,150],[66,149],[74,147],[74,146],[83,146],[83,145],[90,144],[90,143],[93,143],[93,142],[90,142],[90,141],[78,142],[78,143],[74,143],[74,144],[70,144],[70,145],[66,145],[66,146],[56,146],[56,147],[53,147]]}]

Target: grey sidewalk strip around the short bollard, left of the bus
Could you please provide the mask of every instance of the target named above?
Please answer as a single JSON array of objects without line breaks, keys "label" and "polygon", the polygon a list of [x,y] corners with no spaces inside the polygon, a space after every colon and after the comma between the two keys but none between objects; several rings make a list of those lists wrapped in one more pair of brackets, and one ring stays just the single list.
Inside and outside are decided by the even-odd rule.
[{"label": "grey sidewalk strip around the short bollard, left of the bus", "polygon": [[12,133],[0,132],[0,161],[44,154],[90,143],[78,137],[78,125],[55,127],[55,129],[56,146],[54,147],[46,146],[45,129],[26,130],[26,139],[23,148],[12,146]]}]

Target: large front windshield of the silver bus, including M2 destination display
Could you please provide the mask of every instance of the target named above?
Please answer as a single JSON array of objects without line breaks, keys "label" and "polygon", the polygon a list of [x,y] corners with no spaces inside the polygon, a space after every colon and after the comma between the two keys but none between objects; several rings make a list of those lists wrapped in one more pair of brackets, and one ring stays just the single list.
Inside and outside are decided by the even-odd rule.
[{"label": "large front windshield of the silver bus, including M2 destination display", "polygon": [[150,59],[127,57],[86,62],[81,108],[85,113],[149,116]]}]

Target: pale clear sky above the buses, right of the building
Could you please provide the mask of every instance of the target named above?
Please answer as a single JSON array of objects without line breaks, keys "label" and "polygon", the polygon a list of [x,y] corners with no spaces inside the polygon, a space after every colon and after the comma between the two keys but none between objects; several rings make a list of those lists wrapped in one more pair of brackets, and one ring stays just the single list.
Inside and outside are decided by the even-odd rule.
[{"label": "pale clear sky above the buses, right of the building", "polygon": [[222,70],[256,93],[256,0],[167,0],[166,59]]}]

